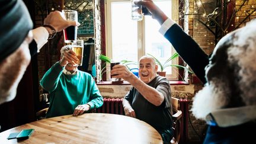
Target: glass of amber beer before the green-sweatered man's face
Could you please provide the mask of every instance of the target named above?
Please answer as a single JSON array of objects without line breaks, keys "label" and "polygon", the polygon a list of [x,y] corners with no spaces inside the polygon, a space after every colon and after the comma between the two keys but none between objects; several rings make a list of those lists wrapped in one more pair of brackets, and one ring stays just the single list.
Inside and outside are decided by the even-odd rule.
[{"label": "glass of amber beer before the green-sweatered man's face", "polygon": [[84,40],[76,40],[73,42],[72,50],[76,53],[76,57],[79,59],[78,66],[81,66],[84,53]]}]

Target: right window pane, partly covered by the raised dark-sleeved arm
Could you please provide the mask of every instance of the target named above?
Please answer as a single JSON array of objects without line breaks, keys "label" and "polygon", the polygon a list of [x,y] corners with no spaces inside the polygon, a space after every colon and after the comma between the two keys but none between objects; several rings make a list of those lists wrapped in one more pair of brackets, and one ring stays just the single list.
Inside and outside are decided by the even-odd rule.
[{"label": "right window pane, partly covered by the raised dark-sleeved arm", "polygon": [[[155,1],[162,11],[171,18],[171,1]],[[172,55],[171,43],[159,33],[158,21],[151,17],[145,17],[145,52],[155,56],[161,63],[164,63]],[[158,69],[160,71],[160,69]],[[164,71],[171,75],[171,67],[165,68]]]}]

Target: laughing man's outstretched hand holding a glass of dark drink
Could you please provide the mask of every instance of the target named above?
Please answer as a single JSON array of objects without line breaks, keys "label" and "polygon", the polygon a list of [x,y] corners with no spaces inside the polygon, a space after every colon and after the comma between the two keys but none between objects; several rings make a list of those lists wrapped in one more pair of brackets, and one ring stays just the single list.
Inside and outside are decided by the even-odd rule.
[{"label": "laughing man's outstretched hand holding a glass of dark drink", "polygon": [[112,78],[123,78],[127,81],[132,75],[133,73],[129,71],[129,69],[127,69],[127,67],[124,65],[115,65],[111,70]]}]

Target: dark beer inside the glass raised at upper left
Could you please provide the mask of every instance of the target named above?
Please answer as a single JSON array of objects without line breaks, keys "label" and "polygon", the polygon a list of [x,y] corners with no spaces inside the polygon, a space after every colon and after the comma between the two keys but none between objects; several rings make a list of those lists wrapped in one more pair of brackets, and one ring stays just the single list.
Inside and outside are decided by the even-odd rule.
[{"label": "dark beer inside the glass raised at upper left", "polygon": [[77,37],[77,27],[70,26],[64,30],[64,40],[65,43],[71,43],[75,41]]}]

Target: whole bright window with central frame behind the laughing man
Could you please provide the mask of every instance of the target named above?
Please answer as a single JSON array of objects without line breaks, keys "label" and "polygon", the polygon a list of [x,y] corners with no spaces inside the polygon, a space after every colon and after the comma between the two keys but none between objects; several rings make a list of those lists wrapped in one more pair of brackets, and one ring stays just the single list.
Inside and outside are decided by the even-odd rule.
[{"label": "whole bright window with central frame behind the laughing man", "polygon": [[[154,2],[169,18],[174,19],[174,1],[177,0]],[[143,17],[142,21],[131,19],[129,0],[109,0],[106,4],[106,55],[111,59],[137,62],[140,57],[149,53],[165,62],[175,52],[169,41],[158,32],[161,27],[158,21],[153,20],[151,16]],[[172,63],[177,64],[178,59]],[[165,71],[168,79],[178,78],[177,69],[168,67]]]}]

